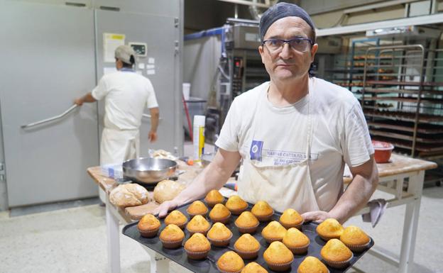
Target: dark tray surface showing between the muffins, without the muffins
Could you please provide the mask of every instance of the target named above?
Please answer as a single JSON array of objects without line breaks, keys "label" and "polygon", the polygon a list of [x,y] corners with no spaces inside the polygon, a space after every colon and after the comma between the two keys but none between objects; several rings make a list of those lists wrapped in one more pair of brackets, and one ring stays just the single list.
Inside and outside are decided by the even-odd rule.
[{"label": "dark tray surface showing between the muffins, without the muffins", "polygon": [[[201,201],[204,202],[204,200],[201,200]],[[206,204],[206,202],[204,202],[204,204]],[[251,205],[251,204],[248,204],[248,205],[249,205],[248,211],[251,211],[251,208],[253,205]],[[181,211],[183,214],[185,214],[185,216],[187,216],[188,220],[189,220],[189,216],[186,212],[186,208],[188,206],[190,206],[190,204],[185,204],[185,205],[180,206],[179,208],[176,208],[176,209],[178,211]],[[208,215],[209,215],[209,213],[208,213]],[[281,213],[275,212],[273,215],[272,221],[278,221],[278,219],[280,218],[280,215],[281,215]],[[163,228],[165,228],[165,222],[163,221],[163,219],[160,219],[161,227],[160,227],[160,230],[158,231],[158,235],[155,238],[141,237],[141,235],[137,229],[138,222],[130,223],[130,224],[126,225],[123,228],[122,233],[130,238],[133,238],[138,243],[141,243],[142,245],[145,245],[146,247],[151,248],[155,252],[158,252],[161,255],[168,257],[170,260],[173,260],[174,262],[181,264],[183,267],[190,269],[192,272],[219,272],[219,270],[217,270],[217,266],[216,266],[217,260],[219,260],[219,257],[222,256],[224,252],[229,251],[229,250],[234,251],[234,243],[242,235],[241,233],[239,233],[239,230],[237,230],[236,226],[234,225],[234,221],[236,220],[237,217],[238,216],[234,216],[234,215],[231,216],[229,223],[225,224],[226,227],[229,228],[233,233],[231,241],[229,242],[229,246],[227,246],[227,247],[212,246],[211,251],[209,251],[209,255],[206,260],[188,259],[187,254],[186,254],[185,250],[183,249],[183,247],[179,247],[175,250],[168,250],[168,249],[164,248],[162,243],[158,239],[158,235],[160,235],[161,230],[163,230]],[[209,216],[207,216],[206,218],[207,218],[207,221],[209,221],[209,223],[212,223]],[[265,260],[263,260],[263,252],[265,252],[265,250],[269,246],[269,244],[266,243],[266,240],[263,239],[263,237],[261,236],[261,230],[263,230],[263,228],[266,225],[268,225],[268,222],[260,222],[260,225],[258,225],[258,229],[257,229],[256,233],[252,234],[261,245],[260,252],[258,252],[258,257],[253,260],[244,260],[244,262],[245,262],[245,264],[248,264],[248,262],[257,262],[262,267],[264,267],[266,270],[268,270],[268,272],[274,272],[273,270],[269,269]],[[313,223],[313,222],[304,223],[302,225],[302,232],[305,233],[305,235],[307,235],[308,238],[310,238],[311,243],[310,243],[310,245],[307,249],[307,253],[305,255],[294,255],[294,261],[292,262],[291,269],[286,272],[297,272],[297,268],[298,268],[299,264],[303,260],[305,260],[306,256],[314,256],[314,257],[319,258],[319,260],[322,260],[322,257],[320,256],[320,250],[322,249],[323,245],[326,244],[326,242],[324,242],[324,240],[322,240],[322,238],[319,238],[319,236],[317,235],[317,232],[315,231],[315,228],[317,228],[317,225],[318,225],[317,223]],[[188,238],[190,238],[190,234],[187,231],[185,231],[185,239],[183,240],[183,244],[185,244],[185,242]],[[349,267],[346,267],[344,269],[334,269],[334,268],[328,266],[329,272],[330,273],[346,272],[352,266],[352,264],[354,264],[356,261],[358,261],[361,258],[361,256],[363,256],[363,254],[366,251],[368,251],[368,249],[371,248],[372,246],[373,246],[373,240],[371,238],[371,243],[369,244],[369,247],[364,252],[359,252],[359,253],[354,252],[354,257],[352,258],[351,262],[349,263]],[[324,261],[322,261],[322,262],[324,264],[326,264]]]}]

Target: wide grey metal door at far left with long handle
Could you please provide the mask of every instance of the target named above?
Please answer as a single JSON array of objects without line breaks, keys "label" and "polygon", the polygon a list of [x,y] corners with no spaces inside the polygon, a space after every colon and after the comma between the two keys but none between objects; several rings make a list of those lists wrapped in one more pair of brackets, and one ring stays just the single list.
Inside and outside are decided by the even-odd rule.
[{"label": "wide grey metal door at far left with long handle", "polygon": [[95,85],[90,9],[1,1],[0,102],[9,206],[97,195],[97,104],[57,116]]}]

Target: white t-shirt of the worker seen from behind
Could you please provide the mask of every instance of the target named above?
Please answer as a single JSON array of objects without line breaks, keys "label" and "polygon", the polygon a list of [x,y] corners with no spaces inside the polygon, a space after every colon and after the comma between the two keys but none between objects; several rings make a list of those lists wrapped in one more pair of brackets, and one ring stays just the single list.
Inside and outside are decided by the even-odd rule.
[{"label": "white t-shirt of the worker seen from behind", "polygon": [[105,128],[138,130],[145,106],[158,107],[151,81],[132,71],[104,75],[91,94],[97,101],[105,98]]}]

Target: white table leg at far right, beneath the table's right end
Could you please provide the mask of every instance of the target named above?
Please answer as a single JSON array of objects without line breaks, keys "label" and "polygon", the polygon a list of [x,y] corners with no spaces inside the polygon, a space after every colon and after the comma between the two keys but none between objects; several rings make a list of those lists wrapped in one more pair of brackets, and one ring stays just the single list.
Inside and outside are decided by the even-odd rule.
[{"label": "white table leg at far right, beneath the table's right end", "polygon": [[399,273],[409,273],[410,265],[414,263],[415,239],[417,237],[418,216],[424,179],[425,171],[420,171],[417,175],[409,178],[408,193],[414,194],[415,200],[406,204],[400,262],[398,264]]}]

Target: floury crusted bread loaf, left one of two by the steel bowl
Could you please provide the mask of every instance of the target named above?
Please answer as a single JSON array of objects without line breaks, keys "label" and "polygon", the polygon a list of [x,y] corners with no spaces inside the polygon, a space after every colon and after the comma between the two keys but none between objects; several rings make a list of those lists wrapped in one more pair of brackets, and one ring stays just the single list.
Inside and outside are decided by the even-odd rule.
[{"label": "floury crusted bread loaf, left one of two by the steel bowl", "polygon": [[109,201],[115,206],[140,206],[149,202],[148,191],[139,184],[122,184],[109,194]]}]

